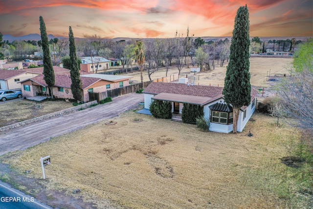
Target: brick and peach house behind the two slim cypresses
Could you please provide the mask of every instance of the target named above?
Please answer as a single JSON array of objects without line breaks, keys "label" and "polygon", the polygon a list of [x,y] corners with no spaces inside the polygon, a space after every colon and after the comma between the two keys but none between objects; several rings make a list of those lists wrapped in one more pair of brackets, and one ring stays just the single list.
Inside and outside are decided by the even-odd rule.
[{"label": "brick and peach house behind the two slim cypresses", "polygon": [[[90,76],[89,76],[90,75]],[[100,76],[98,76],[100,75]],[[83,98],[85,102],[89,101],[89,92],[100,93],[110,89],[116,89],[129,85],[130,76],[101,75],[101,74],[84,74],[80,76],[83,84]],[[103,78],[111,77],[111,78]],[[44,75],[34,78],[28,78],[20,82],[22,84],[23,96],[32,97],[37,95],[50,96]],[[53,87],[53,96],[55,98],[73,99],[70,89],[71,79],[69,74],[55,74],[55,84]]]}]

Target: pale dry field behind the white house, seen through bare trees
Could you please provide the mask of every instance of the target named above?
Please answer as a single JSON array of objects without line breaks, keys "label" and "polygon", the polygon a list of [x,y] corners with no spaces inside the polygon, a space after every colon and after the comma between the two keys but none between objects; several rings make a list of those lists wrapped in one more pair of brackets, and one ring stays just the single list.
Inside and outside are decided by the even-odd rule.
[{"label": "pale dry field behind the white house, seen through bare trees", "polygon": [[[291,67],[293,59],[292,58],[274,58],[274,57],[252,57],[250,58],[250,73],[251,73],[251,79],[250,83],[251,86],[254,87],[270,87],[271,83],[267,82],[267,73],[271,77],[277,76],[283,76],[284,74],[289,74],[289,70]],[[213,86],[224,86],[224,77],[226,73],[226,66],[227,62],[224,63],[223,67],[220,67],[220,65],[215,64],[215,70],[208,70],[203,71],[200,73],[196,73],[195,75],[195,84],[198,85],[213,85]],[[192,67],[192,66],[189,66]],[[211,69],[213,67],[211,66]],[[178,70],[176,67],[171,67],[167,73],[167,75],[178,73]],[[133,73],[128,73],[129,76],[134,76],[134,82],[138,83],[140,82],[140,72],[136,71]],[[162,68],[161,70],[158,70],[154,73],[152,73],[151,78],[157,79],[161,77],[165,77],[166,75],[166,69]],[[184,67],[183,70],[181,70],[181,74],[179,77],[186,77],[186,75],[189,78],[189,83],[194,81],[194,78],[192,77],[194,75],[193,72],[190,72],[190,68]],[[149,81],[148,72],[144,71],[143,76],[144,81]]]}]

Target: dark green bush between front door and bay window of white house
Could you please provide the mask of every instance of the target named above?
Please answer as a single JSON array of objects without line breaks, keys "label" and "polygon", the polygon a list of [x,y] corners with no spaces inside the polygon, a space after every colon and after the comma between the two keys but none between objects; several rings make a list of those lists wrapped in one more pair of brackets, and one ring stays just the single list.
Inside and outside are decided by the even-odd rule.
[{"label": "dark green bush between front door and bay window of white house", "polygon": [[184,103],[181,110],[181,120],[183,123],[196,124],[196,118],[203,116],[203,107]]}]

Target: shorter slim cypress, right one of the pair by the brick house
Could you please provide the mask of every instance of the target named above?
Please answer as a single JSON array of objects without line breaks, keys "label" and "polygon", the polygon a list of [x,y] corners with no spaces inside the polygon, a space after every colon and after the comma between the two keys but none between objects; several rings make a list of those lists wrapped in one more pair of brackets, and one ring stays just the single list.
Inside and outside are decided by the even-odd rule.
[{"label": "shorter slim cypress, right one of the pair by the brick house", "polygon": [[70,57],[70,79],[72,81],[70,89],[72,91],[74,99],[80,101],[82,100],[83,97],[83,85],[80,79],[79,74],[80,67],[77,62],[75,39],[71,26],[69,26],[68,36],[69,36],[69,57]]}]

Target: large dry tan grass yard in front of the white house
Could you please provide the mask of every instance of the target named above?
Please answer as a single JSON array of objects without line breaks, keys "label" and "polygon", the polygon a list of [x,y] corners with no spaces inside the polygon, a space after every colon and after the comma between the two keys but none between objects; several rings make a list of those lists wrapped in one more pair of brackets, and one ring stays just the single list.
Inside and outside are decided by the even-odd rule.
[{"label": "large dry tan grass yard in front of the white house", "polygon": [[[269,116],[252,117],[244,132],[234,135],[128,111],[0,160],[41,179],[39,159],[50,155],[47,179],[39,184],[53,199],[54,191],[62,191],[99,209],[107,208],[108,200],[142,209],[307,208],[307,196],[298,201],[286,194],[298,190],[290,178],[297,171],[280,161],[291,154],[299,132],[285,123],[276,127]],[[117,123],[105,124],[111,120]],[[252,138],[245,136],[248,131]],[[76,188],[79,195],[72,194]]]}]

